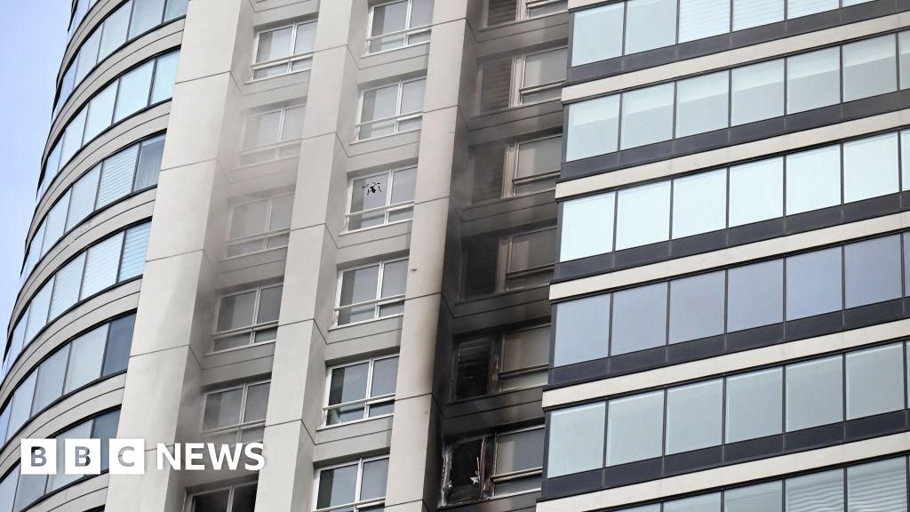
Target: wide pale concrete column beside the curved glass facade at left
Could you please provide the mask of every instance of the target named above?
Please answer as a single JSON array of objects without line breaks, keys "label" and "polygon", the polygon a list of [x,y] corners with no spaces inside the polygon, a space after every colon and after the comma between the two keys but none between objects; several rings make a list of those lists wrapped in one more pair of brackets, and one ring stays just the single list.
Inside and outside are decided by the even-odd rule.
[{"label": "wide pale concrete column beside the curved glass facade at left", "polygon": [[189,3],[117,433],[146,440],[146,473],[112,475],[107,510],[183,507],[185,484],[177,471],[157,471],[155,444],[173,445],[199,429],[214,274],[209,211],[225,182],[219,153],[239,97],[231,63],[245,9],[246,0]]}]

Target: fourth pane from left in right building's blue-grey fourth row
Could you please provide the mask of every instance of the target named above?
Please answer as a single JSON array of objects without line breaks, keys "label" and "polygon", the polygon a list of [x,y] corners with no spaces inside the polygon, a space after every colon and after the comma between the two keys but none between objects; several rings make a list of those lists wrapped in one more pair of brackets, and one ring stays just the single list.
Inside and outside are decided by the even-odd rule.
[{"label": "fourth pane from left in right building's blue-grey fourth row", "polygon": [[727,331],[751,329],[784,319],[784,261],[727,272]]}]

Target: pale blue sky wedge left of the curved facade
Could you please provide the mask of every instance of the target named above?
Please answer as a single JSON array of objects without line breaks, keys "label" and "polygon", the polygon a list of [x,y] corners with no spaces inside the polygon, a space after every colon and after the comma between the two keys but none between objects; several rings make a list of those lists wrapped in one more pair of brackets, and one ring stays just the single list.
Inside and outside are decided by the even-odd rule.
[{"label": "pale blue sky wedge left of the curved facade", "polygon": [[[35,210],[41,152],[50,129],[69,0],[0,3],[0,324],[6,327],[19,288],[25,233]],[[4,331],[5,338],[5,331]]]}]

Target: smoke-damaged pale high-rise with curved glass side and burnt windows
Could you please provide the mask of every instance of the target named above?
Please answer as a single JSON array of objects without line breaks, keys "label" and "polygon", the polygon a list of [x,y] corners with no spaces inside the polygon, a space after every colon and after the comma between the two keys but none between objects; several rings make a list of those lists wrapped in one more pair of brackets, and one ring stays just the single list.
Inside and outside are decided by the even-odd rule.
[{"label": "smoke-damaged pale high-rise with curved glass side and burnt windows", "polygon": [[[567,9],[74,1],[0,512],[533,509]],[[24,438],[113,437],[145,474],[21,471]],[[258,441],[259,471],[156,469]]]}]

